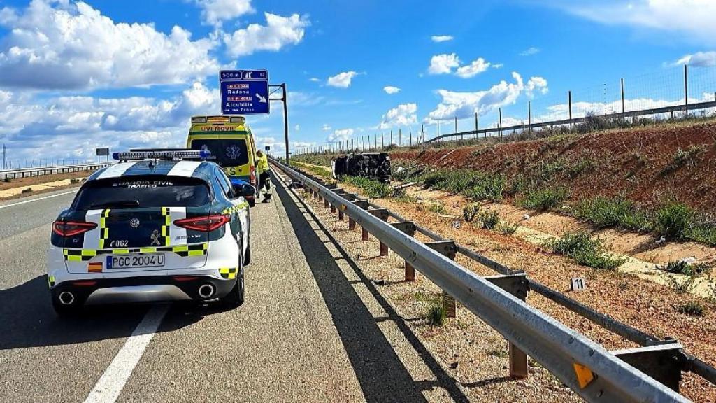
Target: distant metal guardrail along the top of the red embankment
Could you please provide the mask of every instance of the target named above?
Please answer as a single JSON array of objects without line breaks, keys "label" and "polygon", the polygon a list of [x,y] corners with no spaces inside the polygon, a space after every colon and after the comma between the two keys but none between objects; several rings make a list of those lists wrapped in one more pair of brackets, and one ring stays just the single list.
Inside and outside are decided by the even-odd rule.
[{"label": "distant metal guardrail along the top of the red embankment", "polygon": [[[636,117],[636,116],[644,116],[644,115],[657,115],[659,113],[674,113],[674,112],[680,112],[682,110],[697,110],[697,109],[707,109],[707,108],[716,108],[716,101],[708,101],[708,102],[700,102],[700,103],[692,103],[689,105],[672,105],[672,106],[664,106],[661,108],[651,108],[651,109],[642,109],[642,110],[633,110],[630,112],[617,112],[617,113],[609,113],[606,115],[596,115],[596,118],[599,119],[623,119],[626,117]],[[428,140],[422,141],[422,143],[417,144],[427,144],[427,143],[433,143],[435,141],[442,141],[445,138],[450,138],[450,141],[453,140],[464,140],[465,136],[474,136],[479,137],[480,133],[487,136],[487,133],[504,133],[505,131],[518,131],[518,130],[532,130],[533,128],[543,128],[545,126],[558,126],[558,125],[574,125],[577,123],[584,123],[586,120],[589,120],[589,116],[584,116],[581,118],[571,118],[571,119],[560,119],[560,120],[550,120],[547,122],[532,122],[528,124],[521,124],[521,125],[511,125],[511,126],[504,126],[501,128],[484,128],[479,129],[476,131],[461,131],[458,133],[447,133],[442,134],[440,136],[436,136],[434,138],[430,138]]]}]

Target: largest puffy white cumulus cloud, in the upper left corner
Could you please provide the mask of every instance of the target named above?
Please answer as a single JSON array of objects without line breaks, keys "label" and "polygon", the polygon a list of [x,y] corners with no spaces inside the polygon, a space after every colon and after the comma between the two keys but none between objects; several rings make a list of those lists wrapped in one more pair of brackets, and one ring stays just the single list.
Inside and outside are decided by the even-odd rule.
[{"label": "largest puffy white cumulus cloud, in the upper left corner", "polygon": [[[10,11],[8,11],[10,10]],[[216,74],[210,39],[191,40],[173,27],[115,23],[83,2],[34,0],[22,11],[3,9],[0,85],[90,89],[178,84]]]}]

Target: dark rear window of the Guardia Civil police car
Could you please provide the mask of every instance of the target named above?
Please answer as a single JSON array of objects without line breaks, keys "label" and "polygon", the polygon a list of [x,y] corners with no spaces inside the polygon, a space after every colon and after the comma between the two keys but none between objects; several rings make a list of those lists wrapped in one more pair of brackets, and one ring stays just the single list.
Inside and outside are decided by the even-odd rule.
[{"label": "dark rear window of the Guardia Civil police car", "polygon": [[74,209],[199,207],[211,202],[205,181],[182,176],[120,176],[89,182]]}]

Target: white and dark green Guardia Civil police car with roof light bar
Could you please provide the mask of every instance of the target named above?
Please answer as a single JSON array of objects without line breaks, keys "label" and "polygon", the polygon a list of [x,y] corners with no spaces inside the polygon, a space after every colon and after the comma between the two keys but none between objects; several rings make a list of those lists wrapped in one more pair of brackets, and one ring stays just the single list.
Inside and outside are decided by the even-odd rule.
[{"label": "white and dark green Guardia Civil police car with roof light bar", "polygon": [[85,304],[243,303],[252,186],[202,151],[115,153],[52,224],[47,280],[59,313]]}]

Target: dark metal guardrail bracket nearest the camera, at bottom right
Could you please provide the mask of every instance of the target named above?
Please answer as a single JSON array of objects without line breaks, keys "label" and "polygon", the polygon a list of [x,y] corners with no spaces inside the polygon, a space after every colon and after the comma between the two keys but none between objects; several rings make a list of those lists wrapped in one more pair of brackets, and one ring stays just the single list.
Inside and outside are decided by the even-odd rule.
[{"label": "dark metal guardrail bracket nearest the camera, at bottom right", "polygon": [[683,348],[684,346],[674,340],[671,343],[657,344],[656,346],[609,352],[675,392],[679,392],[679,382],[684,364],[681,352]]}]

